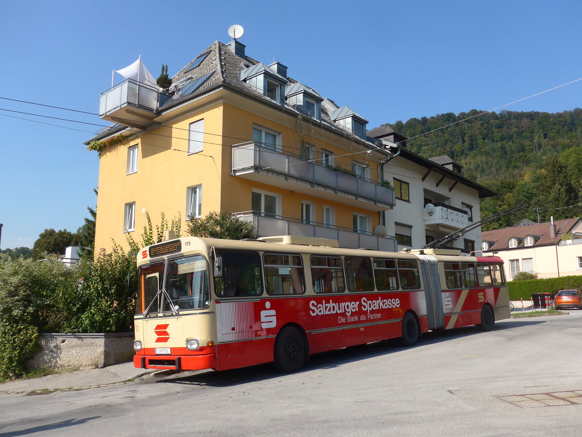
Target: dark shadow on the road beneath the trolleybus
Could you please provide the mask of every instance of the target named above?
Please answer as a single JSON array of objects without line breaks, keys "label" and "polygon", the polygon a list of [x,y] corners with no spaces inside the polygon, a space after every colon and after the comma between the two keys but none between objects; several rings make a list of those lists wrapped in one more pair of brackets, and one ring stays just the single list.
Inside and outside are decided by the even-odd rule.
[{"label": "dark shadow on the road beneath the trolleybus", "polygon": [[[503,323],[496,323],[491,333],[524,325],[539,325],[541,323],[545,323],[545,320],[536,320],[535,322],[522,319],[505,320]],[[154,378],[156,378],[154,382],[201,387],[237,386],[250,382],[258,382],[261,380],[286,378],[289,375],[317,371],[318,369],[333,369],[345,364],[349,364],[351,362],[386,356],[398,353],[400,351],[414,350],[415,348],[421,348],[431,344],[438,344],[445,341],[452,341],[455,339],[461,339],[463,337],[469,337],[478,334],[483,335],[487,333],[482,333],[481,330],[476,326],[467,326],[457,329],[424,333],[418,343],[410,347],[400,346],[397,340],[384,340],[377,341],[375,343],[363,344],[360,346],[346,347],[343,349],[311,355],[310,362],[305,365],[303,369],[296,373],[278,373],[275,371],[272,363],[268,363],[222,372],[216,372],[212,370],[196,372],[185,371],[173,373],[172,375],[164,375],[162,372],[158,376],[154,376]]]}]

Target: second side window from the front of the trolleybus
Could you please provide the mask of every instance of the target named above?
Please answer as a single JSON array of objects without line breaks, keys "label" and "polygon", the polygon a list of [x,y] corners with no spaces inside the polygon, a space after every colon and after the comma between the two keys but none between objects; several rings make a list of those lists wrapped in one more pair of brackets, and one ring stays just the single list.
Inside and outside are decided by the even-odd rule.
[{"label": "second side window from the front of the trolleybus", "polygon": [[265,287],[268,295],[303,294],[305,292],[301,256],[265,253],[262,260],[265,267]]}]

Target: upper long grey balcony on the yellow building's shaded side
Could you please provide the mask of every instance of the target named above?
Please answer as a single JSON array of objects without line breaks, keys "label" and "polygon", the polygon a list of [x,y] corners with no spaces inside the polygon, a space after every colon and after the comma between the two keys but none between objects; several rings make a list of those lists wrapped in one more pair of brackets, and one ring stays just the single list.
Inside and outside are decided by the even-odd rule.
[{"label": "upper long grey balcony on the yellow building's shaded side", "polygon": [[311,195],[313,188],[317,188],[321,198],[374,211],[394,206],[394,190],[388,186],[258,143],[243,143],[233,148],[232,174]]}]

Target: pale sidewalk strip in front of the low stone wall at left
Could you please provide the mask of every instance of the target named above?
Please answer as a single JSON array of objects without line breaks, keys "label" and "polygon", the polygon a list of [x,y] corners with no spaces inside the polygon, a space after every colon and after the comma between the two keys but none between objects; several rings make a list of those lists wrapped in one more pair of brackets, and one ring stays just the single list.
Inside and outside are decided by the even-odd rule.
[{"label": "pale sidewalk strip in front of the low stone wall at left", "polygon": [[116,364],[97,369],[80,369],[73,372],[64,371],[41,378],[16,379],[0,383],[1,393],[45,394],[56,390],[83,390],[116,385],[132,381],[159,369],[138,369],[133,362]]}]

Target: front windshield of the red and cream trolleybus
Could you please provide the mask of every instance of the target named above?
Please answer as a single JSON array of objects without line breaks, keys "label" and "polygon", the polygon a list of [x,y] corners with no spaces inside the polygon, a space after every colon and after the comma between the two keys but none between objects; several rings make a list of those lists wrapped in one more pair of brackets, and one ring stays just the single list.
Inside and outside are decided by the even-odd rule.
[{"label": "front windshield of the red and cream trolleybus", "polygon": [[[166,293],[162,293],[160,288],[164,279]],[[147,308],[148,313],[201,309],[210,303],[208,264],[201,255],[142,267],[140,284],[143,304],[140,303],[138,312]]]}]

